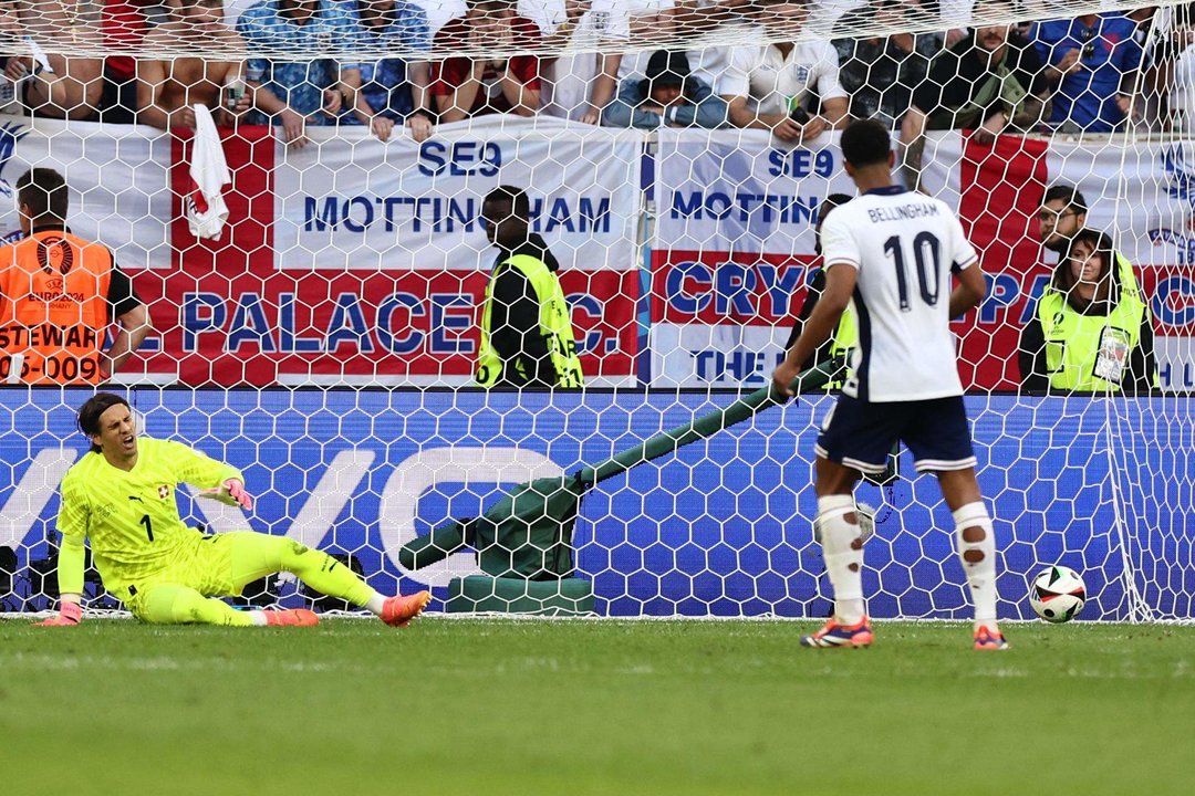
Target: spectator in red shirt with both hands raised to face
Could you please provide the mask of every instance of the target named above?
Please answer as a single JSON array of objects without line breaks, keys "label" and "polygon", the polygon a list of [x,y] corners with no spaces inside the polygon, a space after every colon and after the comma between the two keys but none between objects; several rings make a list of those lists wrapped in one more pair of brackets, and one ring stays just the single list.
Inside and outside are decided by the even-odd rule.
[{"label": "spectator in red shirt with both hands raised to face", "polygon": [[464,17],[448,20],[436,33],[441,51],[468,50],[484,57],[459,56],[431,67],[431,95],[441,122],[488,113],[534,116],[540,106],[539,29],[519,17],[507,0],[470,0]]}]

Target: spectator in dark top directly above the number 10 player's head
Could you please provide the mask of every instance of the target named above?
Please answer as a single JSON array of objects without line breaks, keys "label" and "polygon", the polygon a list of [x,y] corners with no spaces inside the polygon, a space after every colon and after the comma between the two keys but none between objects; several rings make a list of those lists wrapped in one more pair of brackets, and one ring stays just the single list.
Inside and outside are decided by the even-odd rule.
[{"label": "spectator in dark top directly above the number 10 player's head", "polygon": [[[840,30],[860,26],[901,29],[912,21],[919,6],[871,0],[847,12]],[[900,127],[913,103],[913,90],[925,81],[930,61],[943,49],[942,33],[900,32],[871,38],[840,38],[834,42],[841,63],[838,78],[851,95],[851,116],[876,119],[891,129]]]}]

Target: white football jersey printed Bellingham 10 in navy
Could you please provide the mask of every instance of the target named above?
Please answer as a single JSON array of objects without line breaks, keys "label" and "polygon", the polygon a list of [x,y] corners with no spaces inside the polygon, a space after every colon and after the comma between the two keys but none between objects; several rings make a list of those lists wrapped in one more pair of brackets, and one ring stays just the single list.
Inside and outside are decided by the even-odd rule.
[{"label": "white football jersey printed Bellingham 10 in navy", "polygon": [[962,395],[951,271],[978,258],[950,208],[899,185],[868,191],[826,216],[821,241],[827,269],[859,272],[851,302],[859,345],[842,393],[872,402]]}]

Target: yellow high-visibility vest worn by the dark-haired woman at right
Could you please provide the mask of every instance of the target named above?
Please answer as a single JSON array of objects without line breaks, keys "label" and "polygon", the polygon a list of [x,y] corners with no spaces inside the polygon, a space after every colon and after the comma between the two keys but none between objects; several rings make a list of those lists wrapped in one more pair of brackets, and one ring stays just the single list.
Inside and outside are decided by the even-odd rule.
[{"label": "yellow high-visibility vest worn by the dark-haired woman at right", "polygon": [[[1127,369],[1128,357],[1141,341],[1146,315],[1147,308],[1136,290],[1122,290],[1120,303],[1108,315],[1081,315],[1066,303],[1064,294],[1047,290],[1037,302],[1037,319],[1046,338],[1050,387],[1081,393],[1119,391],[1121,384],[1095,374],[1101,344],[1105,334],[1117,335],[1126,346],[1123,366]],[[1157,381],[1157,374],[1153,378]]]}]

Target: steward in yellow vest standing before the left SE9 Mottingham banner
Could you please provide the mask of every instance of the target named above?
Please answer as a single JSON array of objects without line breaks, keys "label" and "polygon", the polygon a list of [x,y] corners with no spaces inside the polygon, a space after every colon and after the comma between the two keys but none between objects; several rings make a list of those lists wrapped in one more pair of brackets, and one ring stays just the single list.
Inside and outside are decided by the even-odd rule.
[{"label": "steward in yellow vest standing before the left SE9 Mottingham banner", "polygon": [[480,387],[580,388],[584,384],[571,313],[547,243],[531,232],[529,202],[498,186],[482,205],[501,249],[482,308],[476,380]]}]

